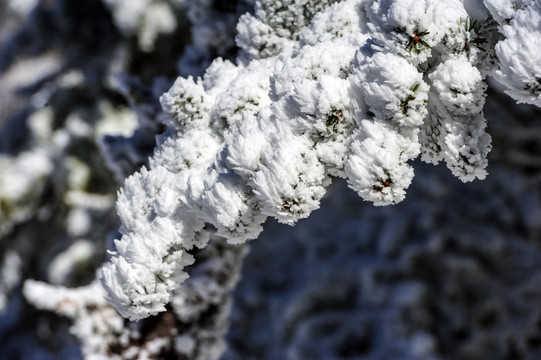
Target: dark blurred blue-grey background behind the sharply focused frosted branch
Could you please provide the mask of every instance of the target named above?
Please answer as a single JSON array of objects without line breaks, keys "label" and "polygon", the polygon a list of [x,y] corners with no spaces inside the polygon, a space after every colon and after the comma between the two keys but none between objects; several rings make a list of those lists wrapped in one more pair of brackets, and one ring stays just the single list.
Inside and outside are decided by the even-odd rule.
[{"label": "dark blurred blue-grey background behind the sharply focused frosted branch", "polygon": [[[0,0],[0,359],[541,359],[541,112],[490,81],[483,181],[417,162],[406,200],[378,208],[335,180],[294,228],[213,239],[170,311],[138,323],[70,290],[98,286],[159,95],[234,59],[248,11]],[[28,279],[56,300],[36,307]]]}]

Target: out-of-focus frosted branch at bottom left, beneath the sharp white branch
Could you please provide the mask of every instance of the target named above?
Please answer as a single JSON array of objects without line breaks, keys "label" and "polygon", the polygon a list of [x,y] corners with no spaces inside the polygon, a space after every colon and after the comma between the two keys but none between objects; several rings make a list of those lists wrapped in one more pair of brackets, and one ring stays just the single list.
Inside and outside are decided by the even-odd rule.
[{"label": "out-of-focus frosted branch at bottom left, beneath the sharp white branch", "polygon": [[107,303],[103,287],[96,281],[68,289],[27,280],[23,293],[38,309],[73,320],[70,332],[81,342],[87,360],[161,359],[164,354],[217,360],[226,349],[229,293],[238,282],[246,252],[244,246],[213,238],[198,254],[200,261],[192,269],[195,276],[175,291],[172,311],[153,322],[130,323],[123,319]]}]

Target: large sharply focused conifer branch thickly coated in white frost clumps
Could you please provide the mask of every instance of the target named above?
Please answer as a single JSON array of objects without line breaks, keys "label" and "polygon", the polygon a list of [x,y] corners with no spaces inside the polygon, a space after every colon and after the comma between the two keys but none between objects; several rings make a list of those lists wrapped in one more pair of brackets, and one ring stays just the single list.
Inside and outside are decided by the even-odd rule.
[{"label": "large sharply focused conifer branch thickly coated in white frost clumps", "polygon": [[[217,59],[161,97],[169,130],[119,193],[123,236],[101,270],[123,316],[164,311],[210,232],[242,243],[268,216],[293,225],[332,176],[375,205],[404,199],[419,155],[484,178],[492,72],[539,105],[539,1],[331,3],[256,2],[239,21],[239,64]],[[517,36],[531,44],[515,49]]]}]

